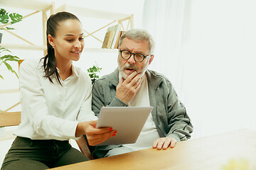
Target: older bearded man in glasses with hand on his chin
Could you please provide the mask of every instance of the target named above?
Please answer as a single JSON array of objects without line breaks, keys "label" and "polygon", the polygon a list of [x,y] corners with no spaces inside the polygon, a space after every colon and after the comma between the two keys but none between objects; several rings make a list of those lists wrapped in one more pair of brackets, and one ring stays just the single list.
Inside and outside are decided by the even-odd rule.
[{"label": "older bearded man in glasses with hand on his chin", "polygon": [[[102,106],[153,106],[137,142],[95,147],[93,157],[110,157],[149,147],[167,149],[191,137],[193,125],[169,79],[147,69],[154,40],[146,30],[128,30],[119,40],[118,68],[92,86],[92,111]],[[118,132],[117,132],[118,133]]]}]

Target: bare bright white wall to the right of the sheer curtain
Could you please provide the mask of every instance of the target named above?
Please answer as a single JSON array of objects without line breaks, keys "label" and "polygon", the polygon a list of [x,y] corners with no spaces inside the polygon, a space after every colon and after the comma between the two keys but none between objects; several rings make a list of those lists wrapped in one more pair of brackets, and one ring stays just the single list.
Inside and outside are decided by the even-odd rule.
[{"label": "bare bright white wall to the right of the sheer curtain", "polygon": [[196,134],[255,126],[255,1],[195,0],[184,61]]}]

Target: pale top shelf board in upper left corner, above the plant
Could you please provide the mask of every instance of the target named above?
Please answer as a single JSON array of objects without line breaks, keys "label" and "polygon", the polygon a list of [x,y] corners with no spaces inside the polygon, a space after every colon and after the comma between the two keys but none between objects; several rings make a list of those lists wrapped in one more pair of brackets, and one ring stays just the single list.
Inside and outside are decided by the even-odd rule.
[{"label": "pale top shelf board in upper left corner, above the plant", "polygon": [[11,6],[14,8],[26,8],[36,11],[45,11],[52,6],[51,2],[37,0],[1,0],[1,6]]}]

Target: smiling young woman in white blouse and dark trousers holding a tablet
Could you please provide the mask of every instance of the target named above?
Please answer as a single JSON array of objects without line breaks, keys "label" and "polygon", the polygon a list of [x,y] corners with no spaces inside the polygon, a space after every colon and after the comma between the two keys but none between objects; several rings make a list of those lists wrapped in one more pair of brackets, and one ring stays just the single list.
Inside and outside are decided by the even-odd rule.
[{"label": "smiling young woman in white blouse and dark trousers holding a tablet", "polygon": [[97,145],[115,135],[112,128],[95,128],[90,77],[72,64],[84,47],[79,19],[68,12],[50,16],[47,40],[46,57],[21,64],[21,124],[2,170],[87,161],[68,140],[86,135],[90,145]]}]

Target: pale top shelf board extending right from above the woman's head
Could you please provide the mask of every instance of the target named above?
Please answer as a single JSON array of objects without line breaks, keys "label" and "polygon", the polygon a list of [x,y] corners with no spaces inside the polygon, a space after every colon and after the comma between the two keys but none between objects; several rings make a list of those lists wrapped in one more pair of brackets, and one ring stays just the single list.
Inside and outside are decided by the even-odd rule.
[{"label": "pale top shelf board extending right from above the woman's head", "polygon": [[81,16],[109,19],[109,20],[115,20],[115,21],[132,17],[132,14],[114,13],[110,11],[101,11],[101,10],[90,9],[90,8],[82,8],[78,6],[68,6],[66,4],[63,4],[62,6],[58,7],[56,9],[56,12],[58,11],[69,11],[69,12],[79,13],[79,15]]}]

